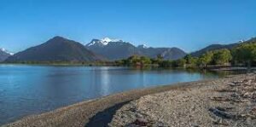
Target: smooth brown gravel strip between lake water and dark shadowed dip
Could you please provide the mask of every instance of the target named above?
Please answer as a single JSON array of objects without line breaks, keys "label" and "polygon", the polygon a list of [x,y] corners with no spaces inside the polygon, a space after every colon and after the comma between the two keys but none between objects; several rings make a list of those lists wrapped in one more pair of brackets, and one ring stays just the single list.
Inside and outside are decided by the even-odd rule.
[{"label": "smooth brown gravel strip between lake water and dark shadowed dip", "polygon": [[172,89],[183,89],[196,84],[211,82],[212,80],[214,79],[133,89],[89,101],[82,101],[67,107],[60,107],[46,113],[29,115],[13,123],[3,124],[3,126],[84,126],[84,124],[89,123],[90,118],[95,116],[96,113],[124,102],[137,100],[144,95],[156,94]]}]

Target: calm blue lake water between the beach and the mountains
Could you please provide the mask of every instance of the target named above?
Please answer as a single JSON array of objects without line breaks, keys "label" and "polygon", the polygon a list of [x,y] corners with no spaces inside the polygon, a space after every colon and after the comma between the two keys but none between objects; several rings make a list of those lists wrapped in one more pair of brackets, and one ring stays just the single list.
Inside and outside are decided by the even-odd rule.
[{"label": "calm blue lake water between the beach and the mountains", "polygon": [[0,125],[125,90],[219,76],[212,72],[109,66],[0,65]]}]

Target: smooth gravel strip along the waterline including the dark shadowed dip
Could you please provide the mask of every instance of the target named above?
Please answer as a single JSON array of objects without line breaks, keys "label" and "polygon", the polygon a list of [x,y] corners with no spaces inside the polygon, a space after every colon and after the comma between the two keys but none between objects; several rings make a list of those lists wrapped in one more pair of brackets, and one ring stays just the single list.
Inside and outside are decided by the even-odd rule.
[{"label": "smooth gravel strip along the waterline including the dark shadowed dip", "polygon": [[[228,76],[225,78],[244,78],[244,74],[236,76]],[[20,120],[5,124],[3,126],[91,126],[94,124],[102,125],[111,122],[114,113],[129,103],[139,99],[144,95],[152,95],[165,91],[193,89],[204,85],[208,85],[215,80],[208,79],[188,83],[170,84],[164,86],[157,86],[147,89],[134,89],[131,91],[122,92],[115,95],[108,95],[102,98],[83,101],[77,104],[61,107],[48,113],[28,116]]]}]

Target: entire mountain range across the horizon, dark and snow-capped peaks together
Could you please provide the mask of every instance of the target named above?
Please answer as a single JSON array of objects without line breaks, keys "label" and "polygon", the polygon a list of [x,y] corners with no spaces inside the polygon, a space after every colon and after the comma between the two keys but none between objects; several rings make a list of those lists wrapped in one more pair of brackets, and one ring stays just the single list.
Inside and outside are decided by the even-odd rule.
[{"label": "entire mountain range across the horizon, dark and snow-capped peaks together", "polygon": [[[215,49],[232,49],[239,43],[256,43],[256,38],[238,43],[212,44],[206,48],[192,52],[190,55],[200,56],[207,51]],[[10,54],[5,49],[0,49],[0,62],[115,61],[126,59],[131,55],[144,55],[150,58],[161,55],[165,60],[177,60],[187,54],[178,48],[153,48],[145,44],[135,46],[119,39],[92,39],[90,43],[83,45],[73,40],[57,36],[38,46],[20,51],[15,55]]]}]

